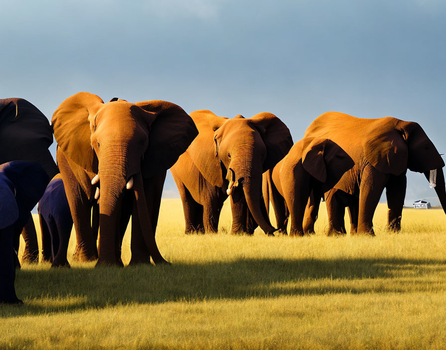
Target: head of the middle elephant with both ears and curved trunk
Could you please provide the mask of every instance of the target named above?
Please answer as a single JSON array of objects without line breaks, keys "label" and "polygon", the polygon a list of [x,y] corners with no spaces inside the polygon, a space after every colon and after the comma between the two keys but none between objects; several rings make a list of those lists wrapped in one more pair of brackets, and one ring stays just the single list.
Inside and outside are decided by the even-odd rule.
[{"label": "head of the middle elephant with both ears and curved trunk", "polygon": [[228,119],[209,110],[199,110],[191,116],[200,131],[188,151],[197,168],[216,186],[223,187],[226,178],[227,194],[232,200],[237,202],[244,195],[261,229],[266,234],[274,232],[276,229],[261,208],[262,174],[273,168],[292,147],[287,126],[271,113]]}]

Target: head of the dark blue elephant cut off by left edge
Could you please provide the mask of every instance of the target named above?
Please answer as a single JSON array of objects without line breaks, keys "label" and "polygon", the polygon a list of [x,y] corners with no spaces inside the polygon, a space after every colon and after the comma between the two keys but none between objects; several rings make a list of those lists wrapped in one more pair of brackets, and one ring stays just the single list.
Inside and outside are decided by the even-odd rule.
[{"label": "head of the dark blue elephant cut off by left edge", "polygon": [[0,165],[0,182],[0,229],[17,222],[21,231],[49,177],[36,162],[13,161]]}]

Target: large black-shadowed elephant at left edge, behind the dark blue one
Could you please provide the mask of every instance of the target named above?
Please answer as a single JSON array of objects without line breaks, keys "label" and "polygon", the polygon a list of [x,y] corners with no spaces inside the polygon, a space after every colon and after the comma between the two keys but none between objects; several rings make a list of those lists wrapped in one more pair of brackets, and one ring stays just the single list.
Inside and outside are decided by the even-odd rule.
[{"label": "large black-shadowed elephant at left edge, behind the dark blue one", "polygon": [[[38,162],[52,178],[59,172],[48,150],[52,143],[49,121],[36,106],[23,98],[0,99],[0,164],[10,161]],[[31,213],[28,213],[22,236],[25,241],[22,261],[38,262],[39,247]],[[14,238],[16,251],[19,238]]]}]

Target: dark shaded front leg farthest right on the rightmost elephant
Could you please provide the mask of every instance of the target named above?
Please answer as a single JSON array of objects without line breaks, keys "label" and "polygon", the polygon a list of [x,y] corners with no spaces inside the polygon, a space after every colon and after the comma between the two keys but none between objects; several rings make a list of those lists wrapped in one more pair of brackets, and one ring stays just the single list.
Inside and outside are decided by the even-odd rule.
[{"label": "dark shaded front leg farthest right on the rightmost elephant", "polygon": [[386,184],[387,197],[387,229],[401,231],[401,216],[403,213],[404,198],[406,197],[406,174],[390,176]]}]

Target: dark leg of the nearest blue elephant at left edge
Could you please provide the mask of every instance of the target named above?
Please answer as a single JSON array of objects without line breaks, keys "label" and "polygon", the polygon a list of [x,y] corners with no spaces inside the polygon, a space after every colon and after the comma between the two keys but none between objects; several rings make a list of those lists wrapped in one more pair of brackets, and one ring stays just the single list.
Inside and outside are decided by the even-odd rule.
[{"label": "dark leg of the nearest blue elephant at left edge", "polygon": [[0,303],[19,304],[21,300],[15,294],[15,266],[12,241],[13,226],[0,229]]}]

